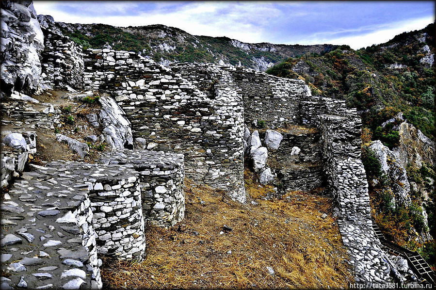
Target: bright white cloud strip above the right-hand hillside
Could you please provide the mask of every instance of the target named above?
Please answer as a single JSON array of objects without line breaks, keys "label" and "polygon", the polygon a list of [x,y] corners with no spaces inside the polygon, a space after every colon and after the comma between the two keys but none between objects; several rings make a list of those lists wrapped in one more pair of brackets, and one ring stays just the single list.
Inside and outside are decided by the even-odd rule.
[{"label": "bright white cloud strip above the right-hand hillside", "polygon": [[[297,41],[299,44],[336,44],[349,45],[353,49],[359,49],[367,46],[371,46],[372,44],[380,44],[387,42],[392,39],[395,35],[398,35],[403,32],[420,30],[427,26],[428,24],[435,21],[435,17],[423,17],[417,19],[408,19],[399,22],[392,22],[386,25],[383,25],[381,29],[377,29],[375,26],[366,26],[360,29],[353,30],[344,30],[342,32],[355,32],[355,36],[344,36],[344,37],[334,37],[334,34],[338,34],[338,32],[325,32],[323,34],[316,33],[312,36],[307,37],[304,40]],[[361,31],[371,30],[371,32],[360,34]],[[289,43],[291,44],[291,43]]]}]

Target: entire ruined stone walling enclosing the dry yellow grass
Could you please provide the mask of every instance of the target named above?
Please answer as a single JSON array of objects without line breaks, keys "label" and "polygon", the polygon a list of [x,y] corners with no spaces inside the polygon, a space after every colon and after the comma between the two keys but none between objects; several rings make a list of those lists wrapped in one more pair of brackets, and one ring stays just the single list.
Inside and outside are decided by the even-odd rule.
[{"label": "entire ruined stone walling enclosing the dry yellow grass", "polygon": [[[11,274],[2,283],[100,288],[97,253],[141,260],[145,222],[168,227],[183,219],[185,175],[245,202],[244,131],[259,123],[285,130],[282,147],[270,153],[290,164],[279,174],[286,190],[326,185],[336,200],[355,280],[391,280],[392,264],[371,227],[361,122],[344,101],[313,97],[302,80],[243,67],[164,67],[111,49],[82,54],[68,38],[43,31],[46,84],[107,93],[129,119],[135,147],[147,150],[115,150],[100,164],[50,162],[24,173],[1,204],[1,262]],[[68,69],[83,71],[82,78]],[[310,133],[286,131],[290,126]],[[294,146],[302,150],[296,165],[286,154]]]}]

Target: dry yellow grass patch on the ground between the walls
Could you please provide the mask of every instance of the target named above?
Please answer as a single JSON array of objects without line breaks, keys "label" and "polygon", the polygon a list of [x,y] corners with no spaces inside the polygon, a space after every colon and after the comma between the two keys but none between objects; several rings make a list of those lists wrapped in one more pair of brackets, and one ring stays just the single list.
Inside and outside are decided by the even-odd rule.
[{"label": "dry yellow grass patch on the ground between the walls", "polygon": [[[352,275],[337,224],[320,217],[331,210],[329,198],[290,193],[241,205],[189,180],[185,185],[181,232],[147,226],[145,260],[105,259],[105,288],[348,287]],[[220,235],[224,225],[233,230]]]}]

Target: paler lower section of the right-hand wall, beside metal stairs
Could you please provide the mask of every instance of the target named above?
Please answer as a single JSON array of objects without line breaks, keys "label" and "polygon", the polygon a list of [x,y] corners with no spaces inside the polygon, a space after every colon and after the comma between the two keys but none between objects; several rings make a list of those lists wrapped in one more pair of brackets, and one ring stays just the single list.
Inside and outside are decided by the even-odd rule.
[{"label": "paler lower section of the right-hand wall, beside metal stairs", "polygon": [[339,231],[355,268],[355,281],[363,284],[389,281],[389,258],[372,229],[368,182],[362,161],[334,158],[328,172],[332,194],[339,204]]}]

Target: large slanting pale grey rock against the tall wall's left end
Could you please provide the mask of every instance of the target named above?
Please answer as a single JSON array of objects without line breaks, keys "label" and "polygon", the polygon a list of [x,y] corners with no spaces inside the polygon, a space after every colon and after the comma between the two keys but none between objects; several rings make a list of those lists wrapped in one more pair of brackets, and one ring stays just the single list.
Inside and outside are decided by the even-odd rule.
[{"label": "large slanting pale grey rock against the tall wall's left end", "polygon": [[133,148],[130,121],[126,113],[111,97],[100,97],[100,123],[106,143],[112,149]]}]

